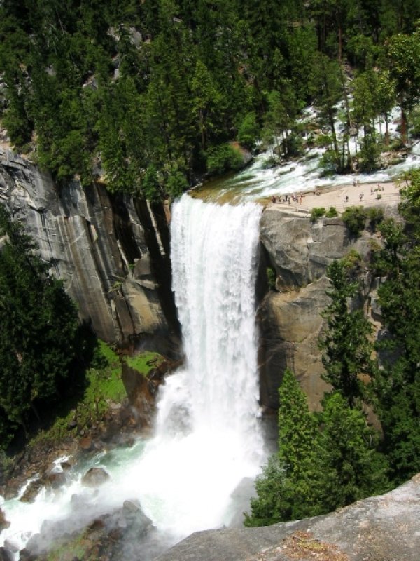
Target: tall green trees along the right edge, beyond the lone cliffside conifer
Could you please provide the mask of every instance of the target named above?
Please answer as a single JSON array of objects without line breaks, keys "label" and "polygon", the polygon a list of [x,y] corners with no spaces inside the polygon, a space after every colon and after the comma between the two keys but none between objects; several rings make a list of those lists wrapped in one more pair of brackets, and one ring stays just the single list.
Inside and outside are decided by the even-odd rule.
[{"label": "tall green trees along the right edge, beyond the lone cliffside conifer", "polygon": [[384,450],[393,479],[402,482],[420,470],[420,180],[414,172],[402,189],[405,231],[392,219],[379,231],[384,248],[377,252],[378,273],[386,280],[378,290],[389,338],[382,342],[384,365],[375,380]]}]

